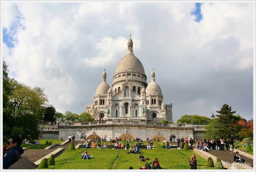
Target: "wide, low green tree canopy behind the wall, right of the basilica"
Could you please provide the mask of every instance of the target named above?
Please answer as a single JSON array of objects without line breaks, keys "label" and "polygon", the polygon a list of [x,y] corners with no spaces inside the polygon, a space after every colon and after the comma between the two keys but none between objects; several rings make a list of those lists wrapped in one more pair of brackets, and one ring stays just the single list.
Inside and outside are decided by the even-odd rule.
[{"label": "wide, low green tree canopy behind the wall, right of the basilica", "polygon": [[206,116],[199,116],[199,115],[182,115],[180,119],[177,120],[177,123],[188,123],[188,124],[198,124],[198,125],[206,125],[212,121],[211,118]]}]

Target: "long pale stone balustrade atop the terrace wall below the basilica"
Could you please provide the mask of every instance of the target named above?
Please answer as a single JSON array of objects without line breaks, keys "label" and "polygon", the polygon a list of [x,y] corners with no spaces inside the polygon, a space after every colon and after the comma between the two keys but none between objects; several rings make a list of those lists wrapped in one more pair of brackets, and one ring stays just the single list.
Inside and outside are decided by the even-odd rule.
[{"label": "long pale stone balustrade atop the terrace wall below the basilica", "polygon": [[204,131],[204,125],[196,127],[194,124],[177,124],[177,123],[157,123],[157,122],[148,122],[148,121],[139,121],[139,120],[113,120],[113,121],[94,121],[87,123],[59,123],[59,126],[94,126],[94,125],[113,125],[113,124],[140,124],[140,125],[157,125],[164,127],[177,127],[177,128],[187,128],[192,127],[195,130]]}]

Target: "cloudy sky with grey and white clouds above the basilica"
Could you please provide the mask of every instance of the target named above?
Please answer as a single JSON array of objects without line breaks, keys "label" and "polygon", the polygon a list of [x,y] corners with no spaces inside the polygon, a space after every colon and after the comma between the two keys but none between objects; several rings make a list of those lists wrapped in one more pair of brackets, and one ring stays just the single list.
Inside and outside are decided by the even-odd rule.
[{"label": "cloudy sky with grey and white clouds above the basilica", "polygon": [[3,60],[10,77],[45,89],[57,111],[80,114],[92,103],[104,68],[111,86],[125,56],[152,68],[173,104],[173,120],[224,103],[253,113],[255,3],[1,2]]}]

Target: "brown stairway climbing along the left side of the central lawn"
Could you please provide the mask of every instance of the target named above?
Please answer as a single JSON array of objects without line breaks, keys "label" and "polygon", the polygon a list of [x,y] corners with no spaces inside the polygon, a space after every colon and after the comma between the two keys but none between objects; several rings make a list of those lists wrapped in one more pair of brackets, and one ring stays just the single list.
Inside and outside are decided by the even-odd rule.
[{"label": "brown stairway climbing along the left side of the central lawn", "polygon": [[[75,140],[74,145],[76,146],[78,143],[81,143],[80,140]],[[65,145],[56,145],[50,149],[28,149],[24,151],[24,153],[21,155],[22,157],[27,157],[30,161],[36,162],[37,160],[40,160],[44,156],[48,155],[52,151],[58,149],[58,148],[64,148],[64,151],[69,148],[71,142],[66,143]],[[63,152],[64,152],[63,151]]]}]

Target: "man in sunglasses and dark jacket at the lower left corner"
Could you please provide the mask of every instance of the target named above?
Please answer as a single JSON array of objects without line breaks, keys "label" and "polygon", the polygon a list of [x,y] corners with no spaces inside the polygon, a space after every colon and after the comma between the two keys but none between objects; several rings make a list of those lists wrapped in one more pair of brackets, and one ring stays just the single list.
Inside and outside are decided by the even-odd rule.
[{"label": "man in sunglasses and dark jacket at the lower left corner", "polygon": [[6,169],[20,159],[20,155],[24,153],[20,147],[22,141],[19,136],[11,136],[7,141],[8,150],[4,156],[3,168]]}]

